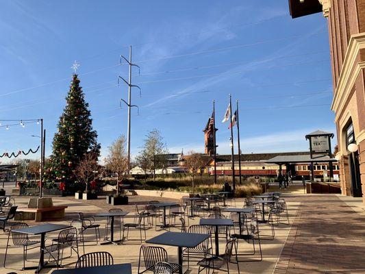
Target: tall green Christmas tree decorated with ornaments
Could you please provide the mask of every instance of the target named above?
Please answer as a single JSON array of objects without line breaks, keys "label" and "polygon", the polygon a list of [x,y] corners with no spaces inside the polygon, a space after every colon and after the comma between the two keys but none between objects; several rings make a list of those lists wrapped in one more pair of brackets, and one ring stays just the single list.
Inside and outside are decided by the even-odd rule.
[{"label": "tall green Christmas tree decorated with ornaments", "polygon": [[99,157],[97,132],[92,130],[92,119],[80,80],[73,80],[66,97],[66,107],[58,122],[58,132],[53,138],[53,153],[46,176],[66,186],[76,181],[75,169],[88,153]]}]

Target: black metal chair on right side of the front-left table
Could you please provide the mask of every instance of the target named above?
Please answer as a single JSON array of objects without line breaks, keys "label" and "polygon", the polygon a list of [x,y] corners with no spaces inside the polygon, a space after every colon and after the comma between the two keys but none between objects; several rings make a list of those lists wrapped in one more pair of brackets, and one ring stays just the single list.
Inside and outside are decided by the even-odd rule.
[{"label": "black metal chair on right side of the front-left table", "polygon": [[[72,251],[77,253],[79,258],[79,245],[77,241],[77,229],[75,227],[64,229],[58,233],[58,238],[51,240],[51,245],[45,246],[45,254],[49,254],[49,262],[53,258],[56,266],[62,266],[62,260],[70,258]],[[64,250],[70,248],[70,256],[64,257]]]}]

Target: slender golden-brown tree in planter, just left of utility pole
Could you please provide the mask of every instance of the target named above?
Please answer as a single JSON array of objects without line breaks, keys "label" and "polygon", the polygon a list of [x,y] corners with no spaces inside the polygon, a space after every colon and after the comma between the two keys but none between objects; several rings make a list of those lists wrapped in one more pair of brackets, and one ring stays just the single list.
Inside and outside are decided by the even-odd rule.
[{"label": "slender golden-brown tree in planter, just left of utility pole", "polygon": [[109,155],[105,158],[107,169],[116,173],[116,195],[119,195],[119,182],[127,174],[127,153],[125,152],[125,136],[120,136],[109,147]]}]

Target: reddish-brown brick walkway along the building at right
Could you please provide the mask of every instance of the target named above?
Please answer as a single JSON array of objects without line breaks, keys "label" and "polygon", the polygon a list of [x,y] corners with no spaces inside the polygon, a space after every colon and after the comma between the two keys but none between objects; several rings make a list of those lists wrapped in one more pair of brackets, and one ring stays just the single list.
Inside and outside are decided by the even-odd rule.
[{"label": "reddish-brown brick walkway along the building at right", "polygon": [[286,201],[301,205],[273,273],[365,273],[365,214],[336,195]]}]

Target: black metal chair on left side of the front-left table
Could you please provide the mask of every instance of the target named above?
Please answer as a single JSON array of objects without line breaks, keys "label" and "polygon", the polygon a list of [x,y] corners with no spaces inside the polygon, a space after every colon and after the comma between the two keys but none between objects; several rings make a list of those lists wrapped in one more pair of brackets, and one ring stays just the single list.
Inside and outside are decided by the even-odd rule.
[{"label": "black metal chair on left side of the front-left table", "polygon": [[4,264],[3,264],[4,268],[5,268],[6,256],[8,254],[10,236],[12,236],[12,242],[13,242],[14,246],[23,247],[23,269],[25,269],[25,261],[27,261],[27,251],[29,249],[34,249],[34,248],[38,247],[38,246],[34,246],[34,245],[37,245],[38,243],[40,243],[39,240],[30,240],[28,234],[14,232],[15,229],[22,229],[22,228],[27,228],[27,227],[29,227],[29,225],[27,225],[26,223],[15,223],[14,225],[10,225],[8,242],[6,242],[6,248],[5,248],[5,257],[4,257]]}]

